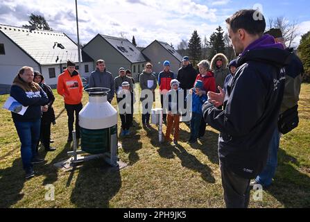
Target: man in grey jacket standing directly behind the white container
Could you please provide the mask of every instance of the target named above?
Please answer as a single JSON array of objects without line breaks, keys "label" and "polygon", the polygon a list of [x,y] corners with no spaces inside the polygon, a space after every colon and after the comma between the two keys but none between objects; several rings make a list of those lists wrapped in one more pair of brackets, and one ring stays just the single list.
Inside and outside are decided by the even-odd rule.
[{"label": "man in grey jacket standing directly behind the white container", "polygon": [[94,87],[105,87],[110,89],[110,92],[107,96],[107,101],[111,103],[114,97],[114,78],[110,71],[106,70],[104,60],[97,60],[96,70],[92,71],[92,74],[90,74],[89,88]]}]

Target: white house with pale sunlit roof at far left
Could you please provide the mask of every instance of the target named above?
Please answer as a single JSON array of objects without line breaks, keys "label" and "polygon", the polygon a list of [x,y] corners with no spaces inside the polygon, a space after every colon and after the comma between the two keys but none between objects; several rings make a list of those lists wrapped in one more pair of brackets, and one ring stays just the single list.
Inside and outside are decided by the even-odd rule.
[{"label": "white house with pale sunlit roof at far left", "polygon": [[[40,71],[45,83],[55,87],[67,60],[78,65],[78,46],[64,33],[0,24],[1,94],[9,92],[12,80],[23,66]],[[76,68],[81,76],[87,77],[94,69],[94,60],[81,51],[81,67]]]}]

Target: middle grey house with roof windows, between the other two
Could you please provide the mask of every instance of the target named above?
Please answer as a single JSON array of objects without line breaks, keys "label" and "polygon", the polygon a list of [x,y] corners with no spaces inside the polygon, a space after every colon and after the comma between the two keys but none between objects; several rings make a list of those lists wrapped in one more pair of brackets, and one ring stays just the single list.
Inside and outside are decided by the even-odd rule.
[{"label": "middle grey house with roof windows, between the other two", "polygon": [[132,71],[136,80],[147,62],[145,56],[129,40],[107,35],[96,35],[84,47],[83,51],[96,60],[105,60],[105,67],[112,75],[119,76],[119,68]]}]

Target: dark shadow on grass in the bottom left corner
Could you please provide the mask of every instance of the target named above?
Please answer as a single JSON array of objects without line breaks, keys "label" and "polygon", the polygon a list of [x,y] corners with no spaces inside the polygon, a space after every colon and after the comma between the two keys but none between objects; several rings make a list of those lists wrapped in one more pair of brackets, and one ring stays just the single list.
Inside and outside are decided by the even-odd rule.
[{"label": "dark shadow on grass in the bottom left corner", "polygon": [[24,176],[21,157],[14,160],[12,167],[0,169],[0,208],[12,207],[24,197],[20,194],[26,181]]}]

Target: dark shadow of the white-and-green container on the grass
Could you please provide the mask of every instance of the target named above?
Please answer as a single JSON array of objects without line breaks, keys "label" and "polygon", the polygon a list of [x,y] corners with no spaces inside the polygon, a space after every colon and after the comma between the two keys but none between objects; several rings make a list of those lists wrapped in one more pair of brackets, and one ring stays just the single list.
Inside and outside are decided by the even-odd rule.
[{"label": "dark shadow of the white-and-green container on the grass", "polygon": [[71,193],[71,202],[76,207],[113,207],[110,200],[120,188],[118,168],[110,167],[102,159],[84,162]]}]

